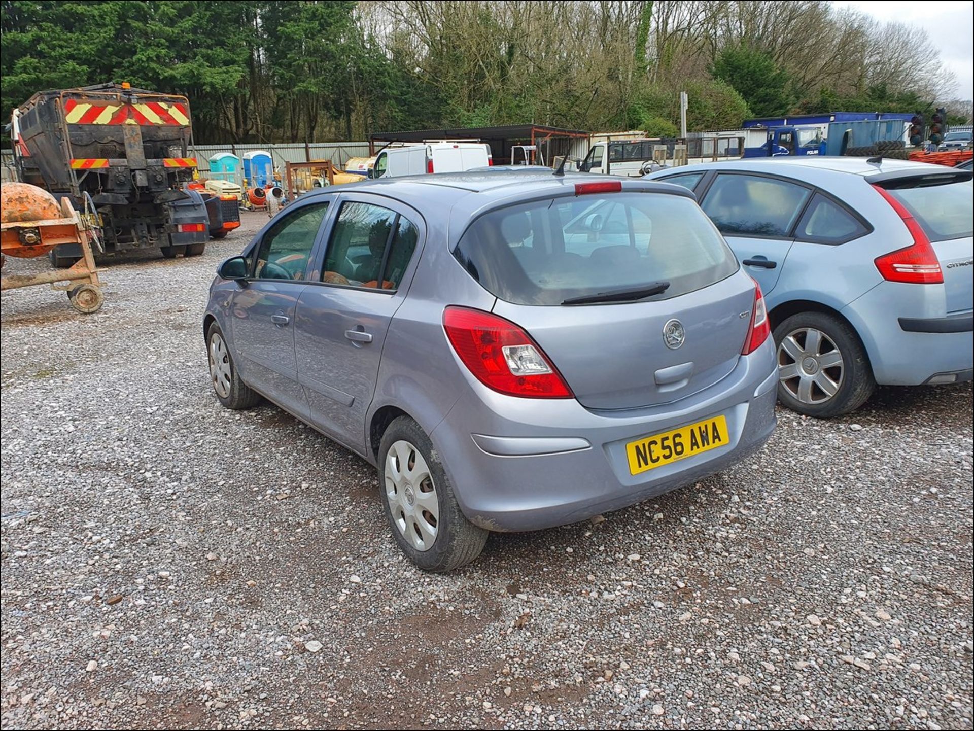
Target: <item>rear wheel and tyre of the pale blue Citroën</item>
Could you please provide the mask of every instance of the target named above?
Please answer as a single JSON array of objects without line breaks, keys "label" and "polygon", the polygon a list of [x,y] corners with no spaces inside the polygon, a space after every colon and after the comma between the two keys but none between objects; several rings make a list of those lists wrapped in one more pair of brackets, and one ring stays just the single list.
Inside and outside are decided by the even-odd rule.
[{"label": "rear wheel and tyre of the pale blue Citro\u00ebn", "polygon": [[774,328],[778,400],[792,411],[833,419],[862,406],[876,380],[869,356],[847,322],[827,312],[799,312]]}]

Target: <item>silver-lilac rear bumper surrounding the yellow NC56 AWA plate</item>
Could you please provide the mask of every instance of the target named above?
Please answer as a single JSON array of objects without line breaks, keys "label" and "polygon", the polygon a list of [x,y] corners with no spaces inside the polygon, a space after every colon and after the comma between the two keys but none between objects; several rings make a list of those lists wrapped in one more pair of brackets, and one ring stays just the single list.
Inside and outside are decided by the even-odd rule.
[{"label": "silver-lilac rear bumper surrounding the yellow NC56 AWA plate", "polygon": [[[674,404],[621,412],[473,386],[431,439],[475,525],[537,530],[574,523],[693,484],[758,450],[775,425],[772,353],[768,340],[718,384]],[[727,446],[630,473],[626,443],[718,415],[727,419]]]}]

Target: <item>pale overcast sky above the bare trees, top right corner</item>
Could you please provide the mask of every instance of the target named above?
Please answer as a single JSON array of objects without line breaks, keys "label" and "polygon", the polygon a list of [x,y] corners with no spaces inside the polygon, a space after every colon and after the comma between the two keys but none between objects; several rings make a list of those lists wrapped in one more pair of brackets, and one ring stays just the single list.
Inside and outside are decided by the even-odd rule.
[{"label": "pale overcast sky above the bare trees, top right corner", "polygon": [[851,6],[879,20],[919,25],[956,76],[954,93],[949,95],[974,98],[974,0],[839,0],[836,5]]}]

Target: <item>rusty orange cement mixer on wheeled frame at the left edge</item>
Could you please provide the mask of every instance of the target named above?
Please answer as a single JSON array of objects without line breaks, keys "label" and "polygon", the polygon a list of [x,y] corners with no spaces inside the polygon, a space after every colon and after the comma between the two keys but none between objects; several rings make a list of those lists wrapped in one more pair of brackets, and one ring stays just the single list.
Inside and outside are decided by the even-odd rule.
[{"label": "rusty orange cement mixer on wheeled frame at the left edge", "polygon": [[73,267],[40,274],[8,274],[0,277],[0,289],[16,289],[37,284],[67,292],[72,307],[79,312],[101,309],[104,295],[94,266],[92,243],[100,239],[96,214],[81,215],[62,198],[60,203],[47,191],[27,183],[0,186],[0,267],[7,257],[31,259],[44,256],[62,243],[80,244],[82,257]]}]

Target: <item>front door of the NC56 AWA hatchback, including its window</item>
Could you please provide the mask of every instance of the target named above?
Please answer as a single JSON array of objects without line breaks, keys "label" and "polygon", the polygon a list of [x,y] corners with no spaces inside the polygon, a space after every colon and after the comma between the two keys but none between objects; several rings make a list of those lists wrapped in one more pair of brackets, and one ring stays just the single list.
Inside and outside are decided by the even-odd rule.
[{"label": "front door of the NC56 AWA hatchback, including its window", "polygon": [[307,415],[294,356],[294,309],[307,286],[328,201],[286,208],[253,248],[251,276],[233,295],[233,347],[244,381],[287,411]]}]

